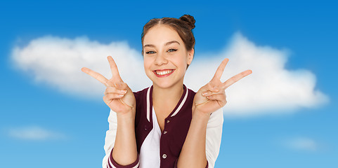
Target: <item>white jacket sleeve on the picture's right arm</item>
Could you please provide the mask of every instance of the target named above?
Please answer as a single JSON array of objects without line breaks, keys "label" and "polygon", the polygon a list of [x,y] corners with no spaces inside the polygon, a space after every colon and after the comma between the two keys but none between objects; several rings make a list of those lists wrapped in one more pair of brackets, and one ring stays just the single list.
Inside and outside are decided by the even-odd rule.
[{"label": "white jacket sleeve on the picture's right arm", "polygon": [[223,128],[223,109],[219,109],[212,113],[207,124],[207,137],[205,141],[205,152],[209,168],[214,168],[216,158],[221,148]]}]

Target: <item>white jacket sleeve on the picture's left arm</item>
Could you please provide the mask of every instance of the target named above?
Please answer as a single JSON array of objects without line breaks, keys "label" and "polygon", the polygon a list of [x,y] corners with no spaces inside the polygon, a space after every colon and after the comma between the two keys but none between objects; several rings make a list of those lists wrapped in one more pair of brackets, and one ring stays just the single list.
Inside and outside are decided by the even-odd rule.
[{"label": "white jacket sleeve on the picture's left arm", "polygon": [[102,167],[107,168],[108,158],[110,153],[112,152],[112,148],[114,148],[116,131],[117,131],[117,116],[115,111],[110,110],[108,116],[109,130],[105,133],[105,157],[102,161]]}]

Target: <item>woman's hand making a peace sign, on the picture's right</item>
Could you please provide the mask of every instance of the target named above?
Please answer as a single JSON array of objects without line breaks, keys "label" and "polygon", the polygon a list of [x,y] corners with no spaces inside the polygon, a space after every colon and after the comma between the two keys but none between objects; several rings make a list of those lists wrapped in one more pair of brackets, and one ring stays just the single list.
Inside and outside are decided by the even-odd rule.
[{"label": "woman's hand making a peace sign, on the picture's right", "polygon": [[252,73],[251,70],[242,71],[222,83],[221,76],[228,61],[228,58],[224,59],[219,65],[219,68],[216,70],[214,78],[212,78],[207,85],[201,87],[195,94],[193,113],[195,113],[195,111],[199,111],[201,113],[211,114],[214,111],[221,109],[226,105],[226,88]]}]

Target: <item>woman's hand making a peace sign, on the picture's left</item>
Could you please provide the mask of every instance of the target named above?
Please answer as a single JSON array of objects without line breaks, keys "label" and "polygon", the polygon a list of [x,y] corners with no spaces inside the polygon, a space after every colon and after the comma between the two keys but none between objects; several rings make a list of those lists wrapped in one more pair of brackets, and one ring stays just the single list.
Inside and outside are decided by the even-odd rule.
[{"label": "woman's hand making a peace sign, on the picture's left", "polygon": [[127,113],[131,109],[135,110],[136,101],[134,93],[128,85],[123,82],[121,76],[119,76],[119,70],[117,69],[114,59],[112,59],[111,56],[108,56],[107,59],[110,64],[110,70],[112,71],[112,78],[110,80],[91,69],[84,67],[81,70],[93,78],[96,78],[96,80],[107,87],[103,101],[112,111],[116,113]]}]

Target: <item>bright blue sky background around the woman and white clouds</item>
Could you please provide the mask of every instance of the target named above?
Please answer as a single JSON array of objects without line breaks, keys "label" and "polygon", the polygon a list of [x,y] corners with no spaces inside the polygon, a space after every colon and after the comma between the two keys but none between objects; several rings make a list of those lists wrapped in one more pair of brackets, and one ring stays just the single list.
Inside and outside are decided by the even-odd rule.
[{"label": "bright blue sky background around the woman and white clouds", "polygon": [[[82,94],[84,89],[77,90],[81,85],[86,92],[97,92],[102,88],[93,89],[89,88],[91,85],[88,83],[81,83],[91,79],[87,80],[80,71],[79,76],[73,76],[73,73],[72,76],[65,76],[60,71],[53,73],[53,69],[41,69],[44,64],[50,64],[46,67],[63,68],[58,63],[67,62],[62,55],[65,52],[53,50],[50,55],[48,51],[47,54],[41,52],[45,54],[44,59],[37,60],[34,53],[40,53],[39,48],[27,55],[20,52],[20,59],[29,57],[35,60],[27,63],[14,59],[15,47],[24,50],[32,41],[46,36],[50,37],[48,41],[51,42],[47,41],[48,47],[49,44],[65,43],[56,42],[59,38],[76,43],[74,39],[82,37],[88,39],[85,46],[96,41],[100,46],[109,47],[112,42],[123,41],[133,53],[141,53],[141,31],[148,20],[179,18],[186,13],[196,20],[193,64],[198,65],[199,60],[210,57],[232,57],[230,54],[236,53],[236,50],[230,52],[229,46],[242,46],[234,42],[234,39],[242,39],[238,43],[247,48],[251,46],[249,43],[254,43],[253,50],[263,53],[273,50],[271,53],[279,53],[279,58],[286,60],[285,64],[277,65],[283,65],[282,69],[287,70],[292,78],[285,78],[287,81],[275,85],[281,90],[290,83],[298,85],[303,80],[297,79],[302,78],[304,88],[313,85],[311,92],[305,90],[299,99],[292,97],[292,101],[278,104],[276,102],[280,101],[273,97],[273,105],[264,101],[269,98],[266,96],[268,92],[275,93],[277,90],[269,90],[265,80],[262,85],[266,90],[259,87],[261,94],[244,94],[246,97],[242,98],[242,102],[258,99],[256,103],[260,106],[243,103],[241,106],[256,108],[256,111],[240,109],[244,113],[242,116],[224,119],[216,167],[338,166],[338,83],[335,73],[338,11],[334,1],[1,1],[0,8],[0,167],[100,167],[104,156],[105,131],[108,129],[109,109],[100,95],[93,93],[91,97],[87,93]],[[236,33],[241,34],[242,38],[236,38]],[[260,46],[272,49],[262,49]],[[107,55],[103,53],[98,52],[95,56],[105,58]],[[256,64],[252,67],[258,70],[253,69],[254,73],[259,72],[260,66],[274,65],[259,55],[254,56],[259,58],[259,61],[252,62]],[[228,71],[231,71],[231,60]],[[124,62],[122,59],[120,62],[123,69]],[[102,69],[108,67],[106,62],[104,64],[107,66]],[[240,65],[235,61],[233,64]],[[100,65],[100,62],[94,62],[93,65],[79,63],[78,66],[100,68]],[[214,66],[214,62],[209,65]],[[294,73],[299,69],[306,72]],[[193,70],[193,67],[189,70]],[[306,76],[310,72],[314,78]],[[270,73],[256,74],[256,77],[245,79],[243,83],[250,82],[258,87],[261,82],[257,80],[259,76]],[[279,77],[279,74],[275,75]],[[39,77],[41,79],[37,80]],[[67,83],[69,80],[65,80],[66,77],[84,80]],[[64,82],[58,83],[55,79]],[[239,86],[232,86],[233,90],[229,87],[228,99],[235,95],[231,91],[239,90]],[[303,87],[293,89],[292,92],[297,92]],[[315,91],[323,93],[326,101],[311,94]],[[311,99],[300,103],[306,98]],[[234,113],[240,113],[236,112],[239,107],[233,105],[235,100],[238,102],[238,99],[234,99],[226,106],[231,107]],[[287,108],[281,108],[283,106]],[[264,113],[257,112],[260,110]]]}]

